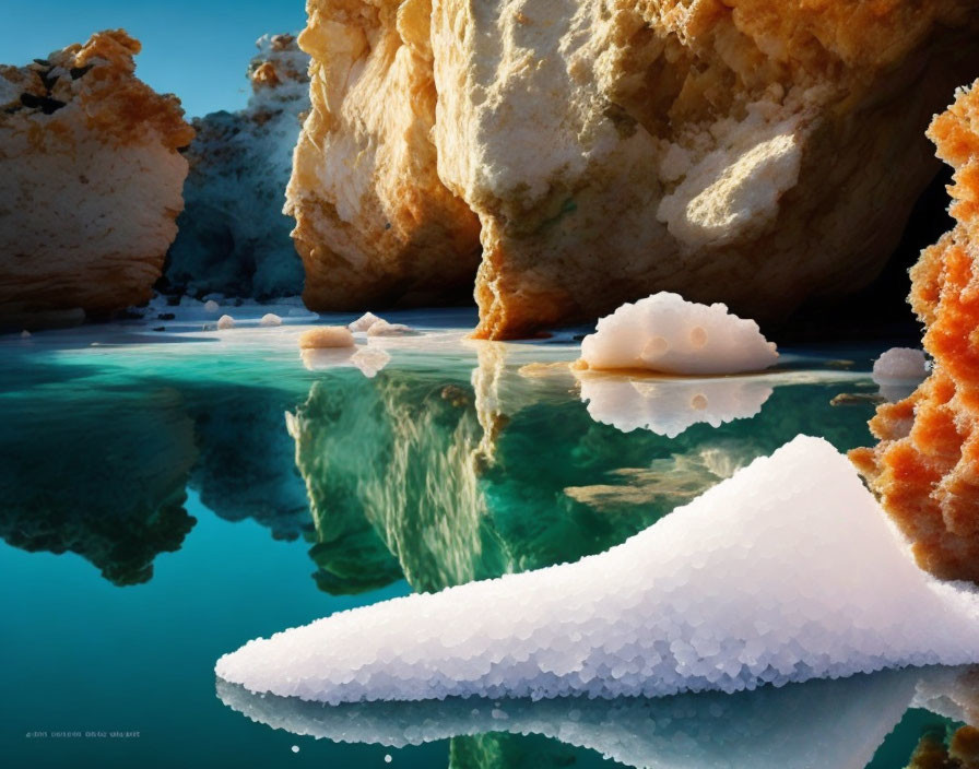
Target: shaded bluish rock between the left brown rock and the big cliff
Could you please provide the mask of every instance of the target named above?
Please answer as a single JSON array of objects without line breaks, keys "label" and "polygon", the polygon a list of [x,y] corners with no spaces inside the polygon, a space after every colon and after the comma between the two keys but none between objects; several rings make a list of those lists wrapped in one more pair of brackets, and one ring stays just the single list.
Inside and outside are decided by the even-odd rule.
[{"label": "shaded bluish rock between the left brown rock and the big cliff", "polygon": [[309,109],[309,57],[292,35],[267,35],[257,45],[248,106],[193,120],[187,208],[166,270],[170,289],[257,299],[303,292],[293,221],[282,209]]}]

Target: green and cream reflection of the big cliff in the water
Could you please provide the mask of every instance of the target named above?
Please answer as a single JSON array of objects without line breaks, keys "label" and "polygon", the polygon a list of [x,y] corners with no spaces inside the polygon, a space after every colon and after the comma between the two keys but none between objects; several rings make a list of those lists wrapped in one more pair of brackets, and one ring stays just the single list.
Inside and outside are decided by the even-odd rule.
[{"label": "green and cream reflection of the big cliff in the water", "polygon": [[287,416],[326,590],[403,575],[435,591],[576,560],[798,433],[818,426],[841,449],[865,438],[829,405],[839,372],[766,377],[770,403],[754,418],[696,424],[671,439],[592,418],[567,365],[527,365],[512,346],[477,350],[472,370],[389,367],[370,380],[325,371]]}]

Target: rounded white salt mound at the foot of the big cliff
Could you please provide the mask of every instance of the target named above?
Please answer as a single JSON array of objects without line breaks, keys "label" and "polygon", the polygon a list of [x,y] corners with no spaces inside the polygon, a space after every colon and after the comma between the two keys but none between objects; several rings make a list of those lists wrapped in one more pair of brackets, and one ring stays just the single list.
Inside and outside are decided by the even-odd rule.
[{"label": "rounded white salt mound at the foot of the big cliff", "polygon": [[581,358],[598,369],[739,374],[768,368],[778,352],[755,321],[731,315],[726,305],[661,292],[602,318],[581,343]]}]

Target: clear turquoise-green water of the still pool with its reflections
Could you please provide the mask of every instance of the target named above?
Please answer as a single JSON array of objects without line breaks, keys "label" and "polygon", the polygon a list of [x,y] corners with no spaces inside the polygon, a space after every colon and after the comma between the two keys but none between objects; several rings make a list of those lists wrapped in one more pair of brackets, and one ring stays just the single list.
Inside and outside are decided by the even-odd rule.
[{"label": "clear turquoise-green water of the still pool with its reflections", "polygon": [[[311,727],[292,703],[219,689],[259,721],[333,738],[315,741],[225,706],[213,664],[250,638],[342,608],[603,551],[798,433],[840,449],[870,440],[863,399],[876,387],[865,372],[880,348],[787,351],[782,370],[746,383],[589,389],[564,365],[577,356],[570,335],[472,343],[464,312],[392,320],[429,331],[381,342],[390,360],[373,379],[329,356],[308,370],[298,326],[201,332],[192,312],[163,333],[129,323],[0,339],[4,764],[601,764],[622,735],[648,736],[670,717],[644,720],[634,703],[627,717],[617,706],[508,703],[510,723],[496,724],[490,703],[479,715],[448,706],[314,713]],[[840,393],[858,398],[830,405]],[[757,414],[675,438],[615,426],[665,413],[672,434],[697,417],[718,422],[715,406]],[[857,717],[881,710],[872,695],[884,684],[797,687],[803,702],[858,706],[835,721],[824,718],[833,707],[803,709],[809,738],[883,741],[873,766],[905,766],[924,730],[951,722],[910,710],[885,741]],[[718,731],[715,705],[692,700],[687,723],[703,745]],[[803,755],[778,743],[778,697],[745,696],[735,710],[769,724],[787,758]],[[582,715],[594,724],[587,738],[574,727]],[[356,729],[338,729],[341,717]],[[64,732],[106,736],[55,736]]]}]

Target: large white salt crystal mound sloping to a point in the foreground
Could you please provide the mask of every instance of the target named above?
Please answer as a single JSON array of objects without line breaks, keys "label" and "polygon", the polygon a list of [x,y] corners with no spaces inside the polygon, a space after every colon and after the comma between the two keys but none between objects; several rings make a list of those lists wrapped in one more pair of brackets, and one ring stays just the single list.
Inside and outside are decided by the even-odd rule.
[{"label": "large white salt crystal mound sloping to a point in the foreground", "polygon": [[659,696],[979,660],[979,599],[921,571],[800,436],[604,554],[338,613],[221,658],[329,703]]}]

